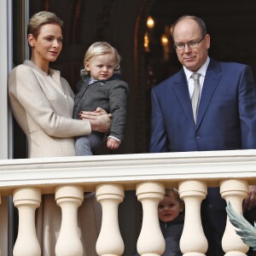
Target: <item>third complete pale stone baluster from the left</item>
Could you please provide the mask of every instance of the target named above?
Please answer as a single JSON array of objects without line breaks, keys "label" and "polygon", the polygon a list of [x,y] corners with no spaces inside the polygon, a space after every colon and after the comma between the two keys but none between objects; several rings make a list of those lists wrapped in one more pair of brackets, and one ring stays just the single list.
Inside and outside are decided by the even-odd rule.
[{"label": "third complete pale stone baluster from the left", "polygon": [[96,199],[102,205],[102,228],[96,242],[98,255],[119,256],[125,245],[119,230],[118,207],[125,196],[119,184],[105,183],[96,186]]}]

